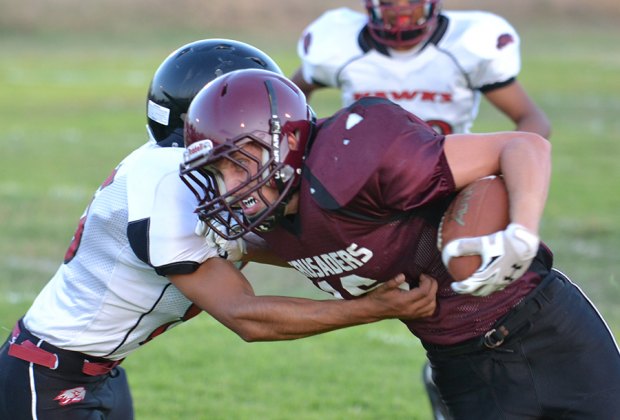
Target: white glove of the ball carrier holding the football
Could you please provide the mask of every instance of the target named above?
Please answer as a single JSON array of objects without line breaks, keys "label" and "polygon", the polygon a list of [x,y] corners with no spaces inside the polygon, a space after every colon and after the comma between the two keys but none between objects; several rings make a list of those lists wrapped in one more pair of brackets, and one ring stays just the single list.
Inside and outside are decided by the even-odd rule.
[{"label": "white glove of the ball carrier holding the football", "polygon": [[527,228],[511,223],[506,230],[475,238],[451,241],[441,257],[446,265],[453,257],[480,255],[482,264],[465,280],[451,284],[460,294],[488,296],[504,289],[520,278],[529,268],[538,252],[540,239]]}]

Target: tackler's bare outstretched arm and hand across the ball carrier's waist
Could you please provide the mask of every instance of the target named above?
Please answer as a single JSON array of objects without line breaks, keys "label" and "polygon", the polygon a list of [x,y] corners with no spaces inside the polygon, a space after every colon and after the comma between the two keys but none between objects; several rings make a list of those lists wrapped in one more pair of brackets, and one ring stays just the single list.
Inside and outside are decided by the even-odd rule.
[{"label": "tackler's bare outstretched arm and hand across the ball carrier's waist", "polygon": [[246,341],[292,340],[382,319],[430,316],[437,292],[436,281],[426,276],[418,288],[402,290],[400,275],[355,300],[256,296],[243,274],[223,258],[211,258],[194,273],[169,278]]}]

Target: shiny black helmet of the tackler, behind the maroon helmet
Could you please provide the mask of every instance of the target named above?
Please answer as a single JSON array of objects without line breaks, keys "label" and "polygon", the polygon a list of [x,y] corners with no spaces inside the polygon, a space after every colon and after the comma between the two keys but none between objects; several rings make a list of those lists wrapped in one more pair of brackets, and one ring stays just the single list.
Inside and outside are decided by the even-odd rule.
[{"label": "shiny black helmet of the tackler, behind the maroon helmet", "polygon": [[146,100],[147,130],[160,146],[183,145],[183,118],[191,100],[208,82],[240,69],[282,74],[264,52],[230,39],[204,39],[186,44],[161,63]]}]

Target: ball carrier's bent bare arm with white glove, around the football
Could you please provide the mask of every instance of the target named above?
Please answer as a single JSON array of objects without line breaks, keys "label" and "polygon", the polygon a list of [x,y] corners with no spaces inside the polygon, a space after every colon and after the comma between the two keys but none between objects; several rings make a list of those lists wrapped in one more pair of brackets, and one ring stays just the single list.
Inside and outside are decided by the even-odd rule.
[{"label": "ball carrier's bent bare arm with white glove, around the football", "polygon": [[488,175],[504,176],[508,227],[491,235],[455,240],[442,251],[446,265],[454,257],[481,255],[487,263],[451,287],[457,293],[486,296],[519,279],[536,256],[549,188],[551,146],[534,133],[507,132],[447,136],[444,150],[458,188]]}]

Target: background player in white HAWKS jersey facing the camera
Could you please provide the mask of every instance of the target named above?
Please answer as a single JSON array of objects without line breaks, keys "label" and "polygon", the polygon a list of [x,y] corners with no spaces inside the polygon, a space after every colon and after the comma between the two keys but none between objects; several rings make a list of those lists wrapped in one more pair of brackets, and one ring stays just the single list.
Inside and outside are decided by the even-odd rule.
[{"label": "background player in white HAWKS jersey facing the camera", "polygon": [[299,39],[292,80],[309,96],[341,90],[348,106],[387,98],[442,134],[469,132],[481,95],[517,130],[543,137],[550,124],[517,81],[519,35],[482,11],[442,11],[442,0],[365,0],[366,14],[325,12]]}]

